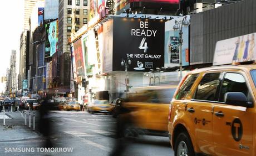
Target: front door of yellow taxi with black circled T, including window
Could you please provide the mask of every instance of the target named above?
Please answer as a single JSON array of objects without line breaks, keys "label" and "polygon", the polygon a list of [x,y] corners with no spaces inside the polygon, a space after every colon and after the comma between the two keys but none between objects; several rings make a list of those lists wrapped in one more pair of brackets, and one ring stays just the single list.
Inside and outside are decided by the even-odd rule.
[{"label": "front door of yellow taxi with black circled T, including window", "polygon": [[216,155],[253,155],[252,108],[224,103],[227,92],[243,92],[249,101],[253,101],[245,80],[239,72],[228,72],[224,76],[220,103],[214,105],[213,139]]}]

